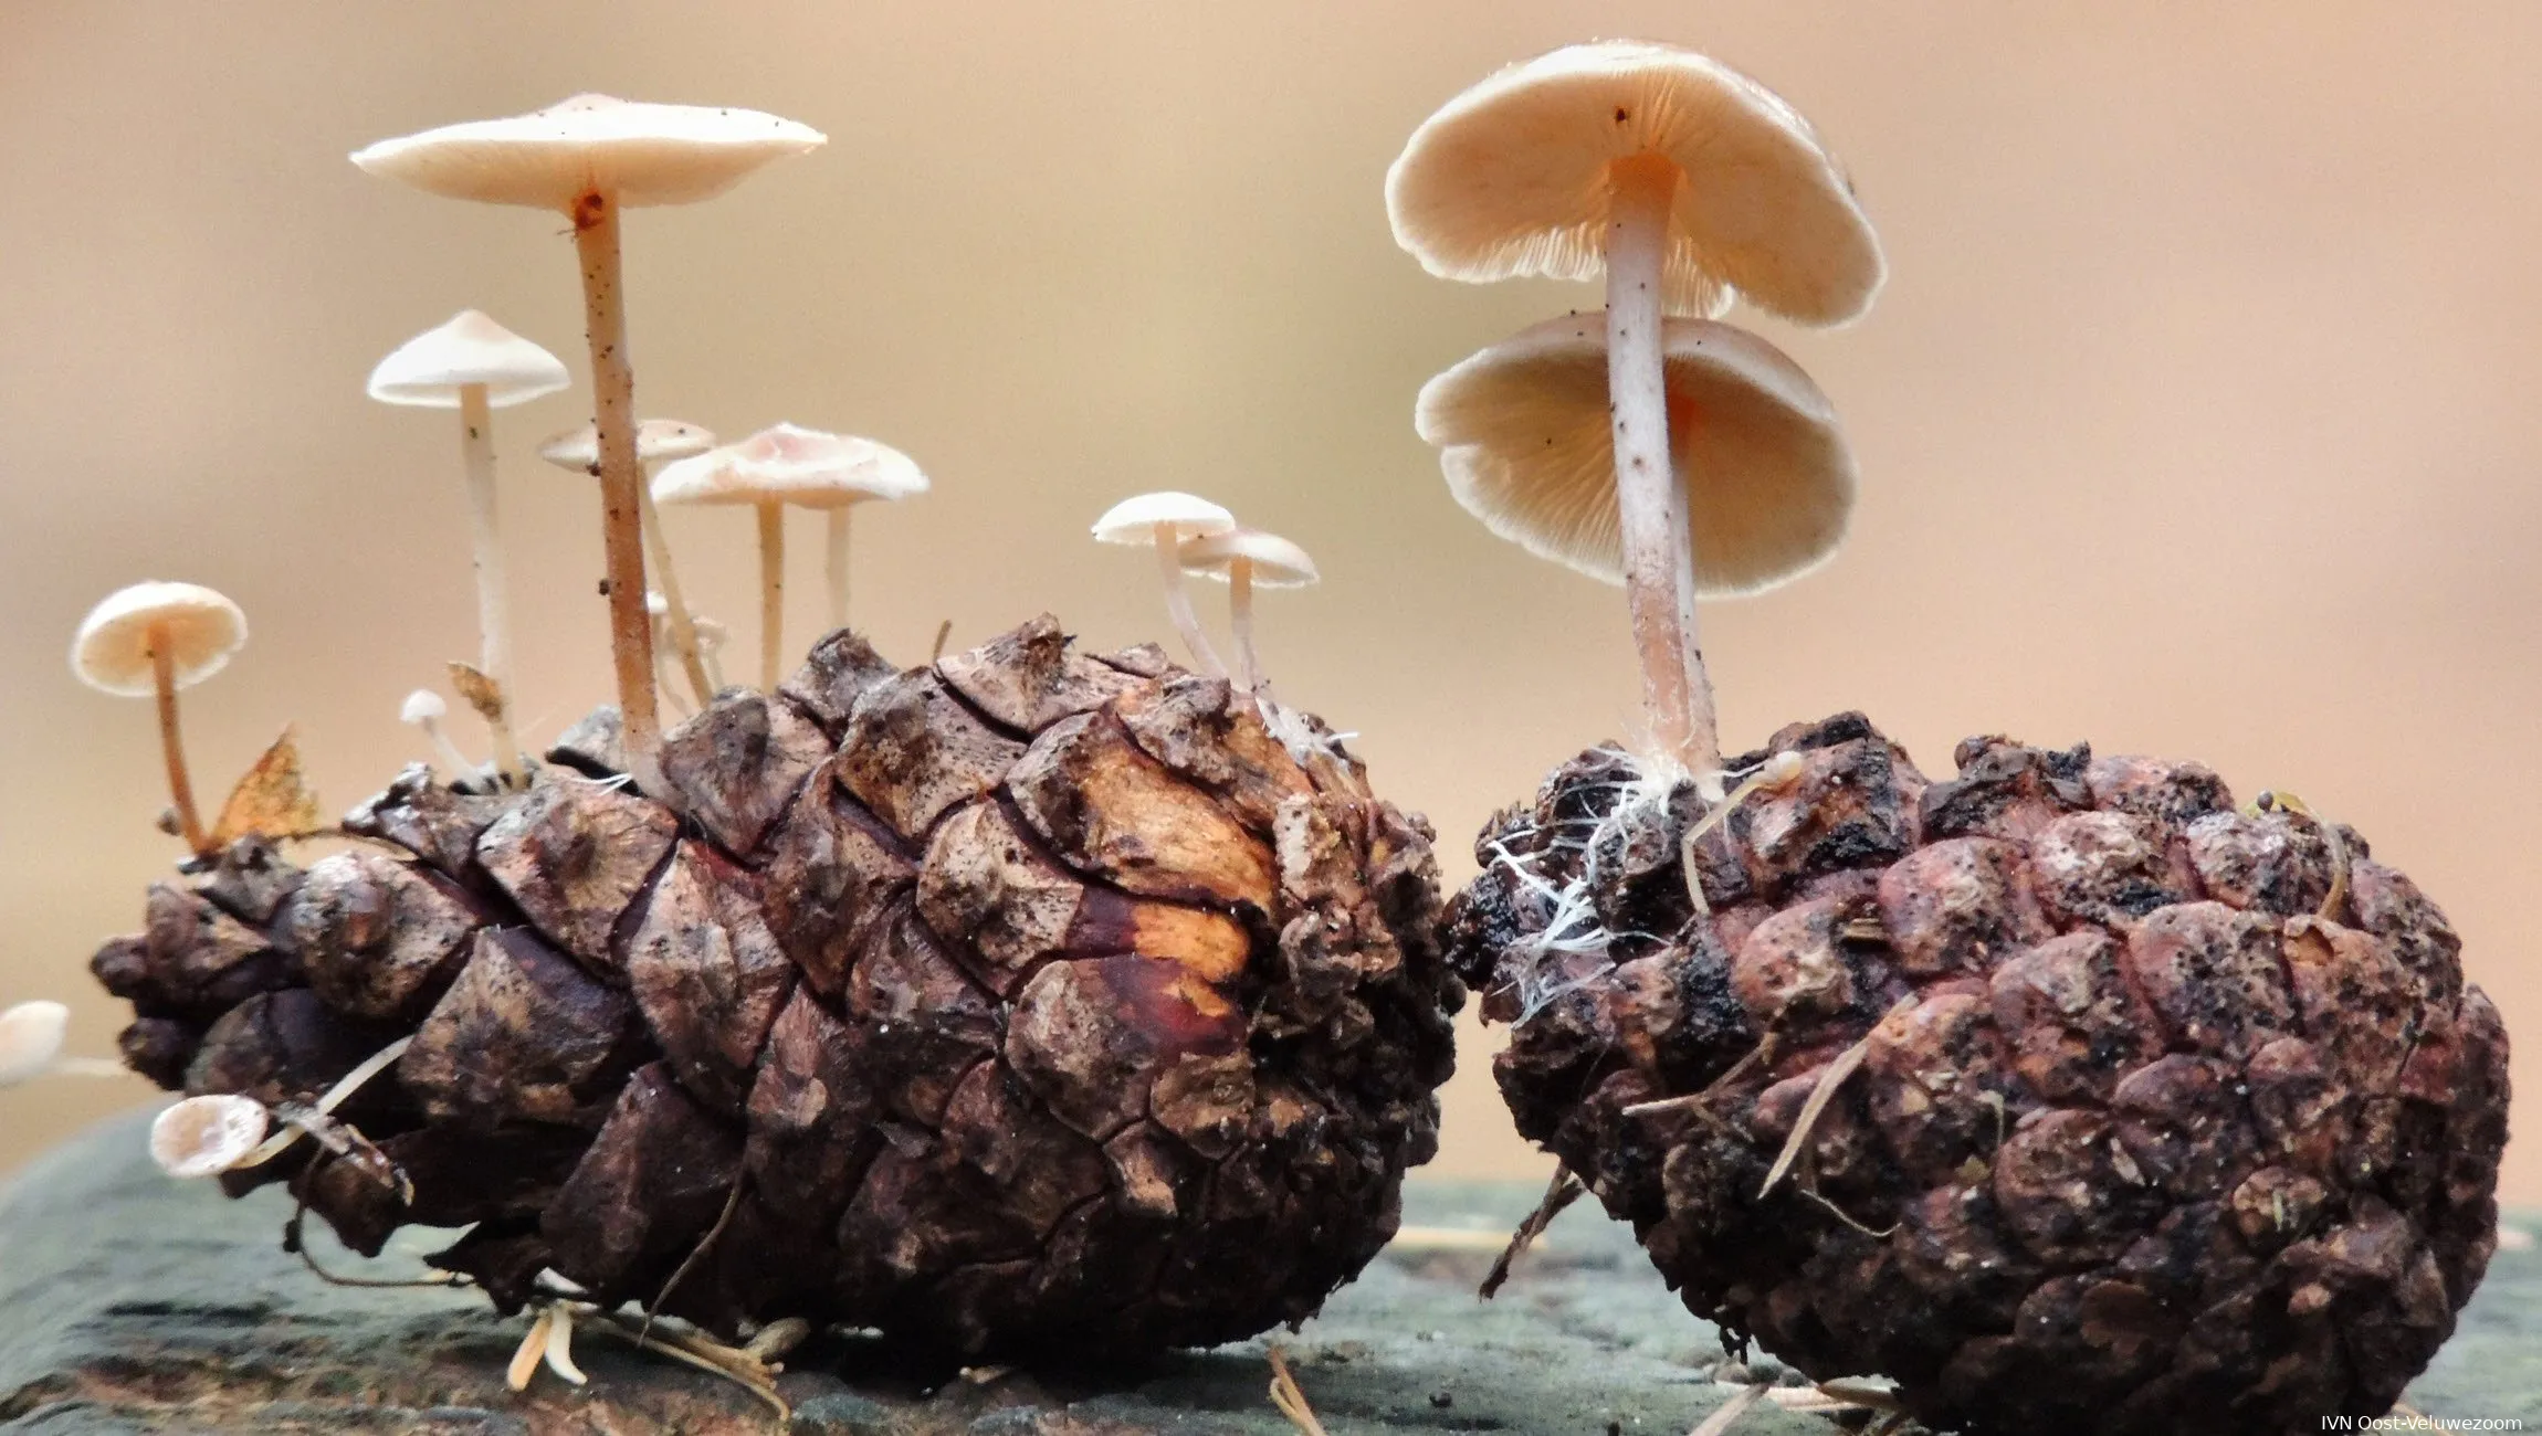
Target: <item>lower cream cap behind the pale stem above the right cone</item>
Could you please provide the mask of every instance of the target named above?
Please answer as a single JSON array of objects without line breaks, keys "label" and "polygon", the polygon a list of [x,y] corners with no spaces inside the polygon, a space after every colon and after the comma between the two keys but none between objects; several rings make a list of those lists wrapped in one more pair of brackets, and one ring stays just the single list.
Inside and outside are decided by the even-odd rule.
[{"label": "lower cream cap behind the pale stem above the right cone", "polygon": [[[1818,384],[1767,341],[1668,320],[1668,442],[1708,597],[1825,562],[1853,511],[1853,452]],[[1467,513],[1530,554],[1624,582],[1604,315],[1540,323],[1421,386],[1413,427]]]}]

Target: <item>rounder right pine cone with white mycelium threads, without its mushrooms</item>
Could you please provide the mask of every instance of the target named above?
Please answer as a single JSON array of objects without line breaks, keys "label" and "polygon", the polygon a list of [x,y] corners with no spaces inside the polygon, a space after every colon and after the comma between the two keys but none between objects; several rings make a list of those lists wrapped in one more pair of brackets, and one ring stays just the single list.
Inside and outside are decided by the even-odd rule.
[{"label": "rounder right pine cone with white mycelium threads, without its mushrooms", "polygon": [[1985,737],[1927,785],[1861,714],[1769,752],[1800,778],[1696,841],[1708,915],[1701,801],[1612,750],[1482,834],[1449,953],[1520,1131],[1688,1309],[1937,1428],[2384,1413],[2489,1266],[2506,1144],[2435,905],[2194,762]]}]

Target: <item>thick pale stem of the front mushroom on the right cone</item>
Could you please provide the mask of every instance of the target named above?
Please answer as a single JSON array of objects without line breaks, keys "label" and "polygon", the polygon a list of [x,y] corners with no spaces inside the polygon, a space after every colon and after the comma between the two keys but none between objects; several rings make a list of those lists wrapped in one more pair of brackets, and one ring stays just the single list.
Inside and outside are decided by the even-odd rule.
[{"label": "thick pale stem of the front mushroom on the right cone", "polygon": [[1624,600],[1642,661],[1642,712],[1662,755],[1693,773],[1711,773],[1721,768],[1721,735],[1696,630],[1696,549],[1668,445],[1660,333],[1660,272],[1678,175],[1678,165],[1660,155],[1609,165],[1607,391],[1624,529]]}]

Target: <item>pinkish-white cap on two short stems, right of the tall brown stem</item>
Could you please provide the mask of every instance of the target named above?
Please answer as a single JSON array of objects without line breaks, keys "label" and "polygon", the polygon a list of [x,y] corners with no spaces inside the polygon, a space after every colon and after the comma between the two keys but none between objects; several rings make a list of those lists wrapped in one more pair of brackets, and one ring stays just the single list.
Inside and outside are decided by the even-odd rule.
[{"label": "pinkish-white cap on two short stems, right of the tall brown stem", "polygon": [[846,516],[857,503],[928,491],[910,455],[796,424],[679,460],[653,480],[656,503],[750,503],[760,513],[760,686],[775,691],[785,625],[785,506],[829,516],[829,620],[846,628]]}]

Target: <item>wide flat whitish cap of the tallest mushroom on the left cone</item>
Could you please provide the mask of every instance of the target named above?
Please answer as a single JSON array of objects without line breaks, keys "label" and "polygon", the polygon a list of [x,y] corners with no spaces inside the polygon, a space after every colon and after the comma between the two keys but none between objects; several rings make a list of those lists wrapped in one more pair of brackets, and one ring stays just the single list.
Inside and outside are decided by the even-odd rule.
[{"label": "wide flat whitish cap of the tallest mushroom on the left cone", "polygon": [[758,109],[577,94],[534,114],[381,140],[353,163],[445,198],[572,211],[587,193],[610,193],[638,208],[714,198],[760,165],[826,142]]}]

